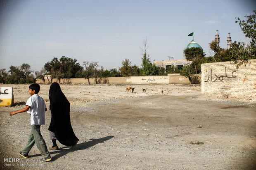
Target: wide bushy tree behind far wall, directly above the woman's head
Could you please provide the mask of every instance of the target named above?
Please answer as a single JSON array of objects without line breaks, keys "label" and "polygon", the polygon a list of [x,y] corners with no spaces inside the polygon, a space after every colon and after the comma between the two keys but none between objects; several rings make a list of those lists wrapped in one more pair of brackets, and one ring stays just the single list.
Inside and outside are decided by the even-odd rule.
[{"label": "wide bushy tree behind far wall, directly above the woman's head", "polygon": [[83,70],[76,59],[62,56],[59,60],[54,57],[45,64],[45,70],[50,72],[51,78],[76,78],[76,73]]}]

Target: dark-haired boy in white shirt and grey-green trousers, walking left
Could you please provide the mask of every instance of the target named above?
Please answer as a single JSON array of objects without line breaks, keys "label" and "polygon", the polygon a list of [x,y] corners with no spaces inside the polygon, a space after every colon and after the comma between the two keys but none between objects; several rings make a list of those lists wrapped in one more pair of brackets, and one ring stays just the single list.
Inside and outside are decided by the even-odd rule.
[{"label": "dark-haired boy in white shirt and grey-green trousers, walking left", "polygon": [[[41,124],[45,124],[45,111],[47,111],[47,108],[45,106],[45,101],[42,97],[38,95],[38,92],[40,90],[40,85],[38,84],[32,84],[29,86],[29,94],[31,97],[28,99],[26,103],[26,108],[17,110],[15,112],[11,112],[10,115],[15,115],[17,113],[22,112],[28,112],[30,117],[30,123],[31,123],[31,132],[28,136],[28,142],[24,149],[19,152],[19,155],[22,156],[24,159],[28,158],[28,152],[33,147],[33,145],[36,143],[36,146],[38,147],[40,153],[42,156],[44,156],[43,159],[40,159],[41,162],[47,162],[52,160],[50,153],[47,150],[45,140],[43,139],[41,132],[40,132],[40,126]],[[30,109],[30,111],[28,111]]]}]

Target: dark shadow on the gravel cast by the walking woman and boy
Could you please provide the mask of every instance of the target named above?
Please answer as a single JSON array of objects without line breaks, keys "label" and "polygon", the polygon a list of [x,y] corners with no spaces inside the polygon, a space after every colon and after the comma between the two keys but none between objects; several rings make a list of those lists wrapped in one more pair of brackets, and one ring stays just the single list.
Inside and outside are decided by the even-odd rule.
[{"label": "dark shadow on the gravel cast by the walking woman and boy", "polygon": [[[106,136],[104,138],[99,138],[99,139],[90,139],[90,141],[88,141],[88,142],[83,142],[83,143],[78,142],[78,144],[76,145],[76,148],[74,148],[74,149],[71,149],[70,147],[59,148],[59,150],[54,150],[54,151],[50,152],[50,154],[57,154],[55,156],[52,156],[52,161],[55,161],[70,152],[74,152],[76,150],[88,149],[89,147],[97,145],[98,143],[103,143],[113,137],[114,136]],[[40,154],[33,155],[32,157],[34,157],[34,156],[40,156]]]}]

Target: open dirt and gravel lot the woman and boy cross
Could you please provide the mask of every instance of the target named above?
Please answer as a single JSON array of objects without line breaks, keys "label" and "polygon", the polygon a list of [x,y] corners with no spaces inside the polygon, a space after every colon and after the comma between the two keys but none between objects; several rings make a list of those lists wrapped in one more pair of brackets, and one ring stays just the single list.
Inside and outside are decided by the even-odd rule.
[{"label": "open dirt and gravel lot the woman and boy cross", "polygon": [[[19,156],[31,131],[30,117],[10,111],[24,108],[29,85],[13,87],[16,106],[0,108],[0,169],[48,170],[254,170],[256,103],[201,96],[200,86],[61,85],[71,103],[71,124],[80,139],[76,149],[50,151],[52,161],[37,162],[34,146],[26,161]],[[6,85],[0,85],[6,87]],[[50,85],[39,95],[49,107]],[[147,88],[142,93],[142,88]],[[163,92],[161,92],[163,91]],[[41,133],[52,143],[46,125]],[[7,162],[7,158],[19,162]],[[10,167],[12,166],[13,167]],[[23,167],[22,167],[23,166]]]}]

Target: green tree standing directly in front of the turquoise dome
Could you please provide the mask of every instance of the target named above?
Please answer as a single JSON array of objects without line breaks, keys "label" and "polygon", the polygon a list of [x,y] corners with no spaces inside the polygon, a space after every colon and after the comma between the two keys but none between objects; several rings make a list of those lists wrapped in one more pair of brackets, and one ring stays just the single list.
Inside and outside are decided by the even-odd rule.
[{"label": "green tree standing directly in front of the turquoise dome", "polygon": [[196,74],[197,72],[200,72],[201,61],[204,58],[204,56],[204,51],[198,47],[187,48],[185,50],[185,57],[188,61],[192,61]]}]

